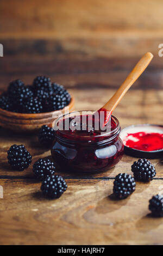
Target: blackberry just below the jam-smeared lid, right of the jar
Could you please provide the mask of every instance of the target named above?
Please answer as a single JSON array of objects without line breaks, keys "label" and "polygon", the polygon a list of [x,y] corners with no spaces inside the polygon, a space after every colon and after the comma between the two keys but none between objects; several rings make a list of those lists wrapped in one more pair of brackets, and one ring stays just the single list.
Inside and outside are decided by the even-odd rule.
[{"label": "blackberry just below the jam-smeared lid, right of the jar", "polygon": [[153,180],[156,175],[153,164],[147,159],[139,159],[131,166],[131,171],[134,173],[134,178],[141,181]]}]

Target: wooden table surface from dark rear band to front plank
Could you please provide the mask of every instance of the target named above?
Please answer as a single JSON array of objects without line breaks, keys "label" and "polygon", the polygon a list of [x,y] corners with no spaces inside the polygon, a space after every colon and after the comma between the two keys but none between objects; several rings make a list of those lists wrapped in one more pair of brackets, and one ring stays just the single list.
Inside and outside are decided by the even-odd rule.
[{"label": "wooden table surface from dark rear band to front plank", "polygon": [[[45,74],[62,83],[74,95],[76,109],[101,107],[138,59],[76,60],[1,58],[1,89],[15,78],[31,83]],[[154,59],[146,72],[129,90],[114,115],[121,127],[131,124],[163,124],[162,66]],[[2,245],[155,245],[163,244],[163,218],[153,218],[148,201],[162,190],[163,166],[152,160],[156,176],[149,183],[136,182],[136,191],[125,200],[112,197],[115,176],[131,174],[134,157],[124,155],[115,168],[104,173],[80,175],[61,173],[68,188],[59,198],[42,197],[40,182],[32,165],[23,172],[12,171],[7,150],[12,144],[24,144],[33,163],[50,155],[36,136],[16,134],[0,128],[0,243]],[[163,156],[162,156],[163,157]]]}]

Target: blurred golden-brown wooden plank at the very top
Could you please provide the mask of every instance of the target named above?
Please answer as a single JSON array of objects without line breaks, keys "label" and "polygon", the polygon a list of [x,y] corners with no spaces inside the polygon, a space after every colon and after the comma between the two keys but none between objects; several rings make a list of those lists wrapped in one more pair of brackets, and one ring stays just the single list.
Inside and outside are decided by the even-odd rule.
[{"label": "blurred golden-brown wooden plank at the very top", "polygon": [[112,31],[156,32],[162,30],[161,6],[161,0],[47,0],[46,4],[43,0],[2,0],[1,33],[52,37]]}]

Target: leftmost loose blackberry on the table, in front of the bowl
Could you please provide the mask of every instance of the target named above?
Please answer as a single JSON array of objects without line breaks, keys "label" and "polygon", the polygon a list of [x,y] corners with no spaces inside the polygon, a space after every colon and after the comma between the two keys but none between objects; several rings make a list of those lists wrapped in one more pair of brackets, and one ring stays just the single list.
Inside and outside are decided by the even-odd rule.
[{"label": "leftmost loose blackberry on the table, in front of the bowl", "polygon": [[24,170],[28,168],[32,156],[24,145],[12,145],[8,150],[8,162],[14,170]]}]

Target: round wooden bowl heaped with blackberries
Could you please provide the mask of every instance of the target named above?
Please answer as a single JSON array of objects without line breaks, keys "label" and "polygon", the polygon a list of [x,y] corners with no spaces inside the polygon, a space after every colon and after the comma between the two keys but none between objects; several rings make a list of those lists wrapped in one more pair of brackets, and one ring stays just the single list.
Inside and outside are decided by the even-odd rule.
[{"label": "round wooden bowl heaped with blackberries", "polygon": [[0,95],[0,125],[17,132],[37,132],[42,125],[52,127],[59,113],[72,111],[74,100],[64,86],[37,76],[32,85],[12,81]]}]

